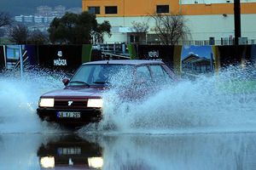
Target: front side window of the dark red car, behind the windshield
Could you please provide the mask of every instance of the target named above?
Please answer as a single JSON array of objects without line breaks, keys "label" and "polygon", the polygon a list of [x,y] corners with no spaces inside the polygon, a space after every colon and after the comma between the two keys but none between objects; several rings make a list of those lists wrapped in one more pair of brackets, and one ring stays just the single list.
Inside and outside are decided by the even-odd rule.
[{"label": "front side window of the dark red car, behind the windshield", "polygon": [[153,84],[148,66],[137,67],[136,83],[139,86],[150,86]]}]

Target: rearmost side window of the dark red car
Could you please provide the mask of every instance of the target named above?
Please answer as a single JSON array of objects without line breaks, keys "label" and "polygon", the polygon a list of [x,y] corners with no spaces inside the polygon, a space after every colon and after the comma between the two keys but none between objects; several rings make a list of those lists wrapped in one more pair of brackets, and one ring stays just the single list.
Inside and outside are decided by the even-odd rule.
[{"label": "rearmost side window of the dark red car", "polygon": [[154,81],[158,85],[170,84],[173,82],[169,74],[162,68],[161,65],[151,65],[150,69],[152,71]]}]

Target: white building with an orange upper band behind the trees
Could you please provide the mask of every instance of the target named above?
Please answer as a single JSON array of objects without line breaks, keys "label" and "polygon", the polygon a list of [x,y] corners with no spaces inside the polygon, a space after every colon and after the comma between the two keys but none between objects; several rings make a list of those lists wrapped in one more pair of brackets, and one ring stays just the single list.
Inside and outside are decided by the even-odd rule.
[{"label": "white building with an orange upper band behind the trees", "polygon": [[[97,20],[109,20],[113,36],[105,41],[134,42],[132,22],[149,24],[147,42],[158,42],[149,14],[182,12],[191,37],[181,44],[218,45],[232,43],[235,37],[234,0],[83,0],[83,11],[96,14]],[[243,43],[256,40],[256,0],[241,0],[241,37]],[[133,37],[132,37],[133,36]]]}]

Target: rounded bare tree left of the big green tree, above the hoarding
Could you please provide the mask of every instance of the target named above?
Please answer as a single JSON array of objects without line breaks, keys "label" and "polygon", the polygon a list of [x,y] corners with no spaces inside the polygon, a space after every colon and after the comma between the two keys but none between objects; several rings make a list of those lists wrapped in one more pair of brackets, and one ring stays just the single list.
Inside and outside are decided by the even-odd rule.
[{"label": "rounded bare tree left of the big green tree, above the hoarding", "polygon": [[29,37],[29,31],[26,26],[17,25],[9,27],[9,36],[11,37],[11,42],[17,44],[23,44]]}]

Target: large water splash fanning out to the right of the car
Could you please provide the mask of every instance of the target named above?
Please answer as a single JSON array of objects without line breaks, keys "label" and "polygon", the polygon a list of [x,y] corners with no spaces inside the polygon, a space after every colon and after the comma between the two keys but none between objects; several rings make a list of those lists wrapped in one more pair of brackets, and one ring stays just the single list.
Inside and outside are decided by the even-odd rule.
[{"label": "large water splash fanning out to the right of the car", "polygon": [[103,95],[104,119],[83,132],[225,133],[255,132],[255,77],[252,68],[230,66],[161,89],[140,102],[119,104],[119,89]]}]

